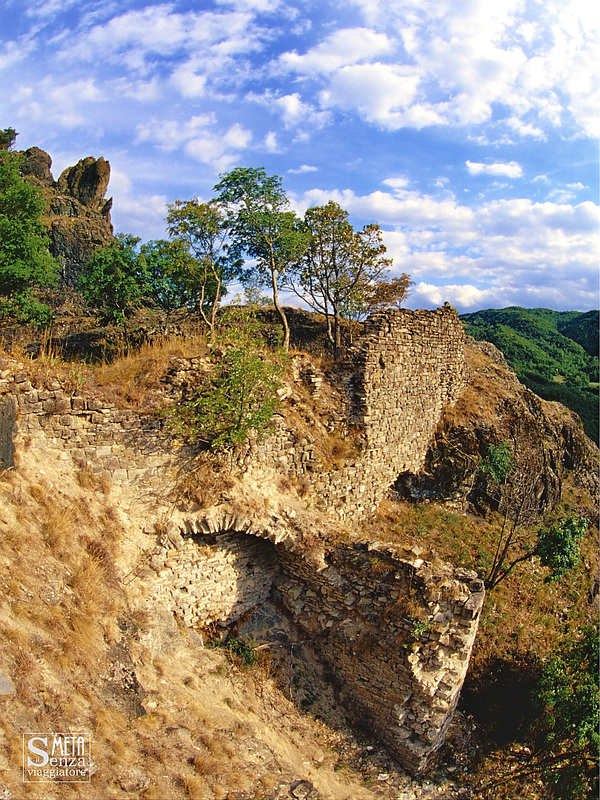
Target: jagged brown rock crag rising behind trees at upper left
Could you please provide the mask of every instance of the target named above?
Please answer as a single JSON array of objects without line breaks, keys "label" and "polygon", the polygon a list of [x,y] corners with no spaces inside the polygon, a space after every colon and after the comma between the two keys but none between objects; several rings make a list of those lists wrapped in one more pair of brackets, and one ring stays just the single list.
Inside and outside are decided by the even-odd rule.
[{"label": "jagged brown rock crag rising behind trees at upper left", "polygon": [[39,147],[24,152],[21,173],[42,189],[48,203],[45,225],[50,252],[61,265],[61,282],[74,286],[83,265],[98,247],[110,243],[112,199],[105,198],[110,164],[88,156],[67,167],[57,181],[52,159]]}]

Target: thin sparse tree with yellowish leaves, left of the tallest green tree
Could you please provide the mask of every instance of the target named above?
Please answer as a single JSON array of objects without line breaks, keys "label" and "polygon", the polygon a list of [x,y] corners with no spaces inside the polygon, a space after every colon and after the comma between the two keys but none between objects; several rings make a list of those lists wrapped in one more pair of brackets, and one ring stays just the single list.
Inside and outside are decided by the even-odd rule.
[{"label": "thin sparse tree with yellowish leaves, left of the tallest green tree", "polygon": [[212,331],[225,284],[235,273],[235,263],[227,252],[223,211],[215,201],[198,200],[177,200],[168,209],[169,236],[188,255],[187,259],[178,260],[175,272],[188,298],[185,305],[193,301]]}]

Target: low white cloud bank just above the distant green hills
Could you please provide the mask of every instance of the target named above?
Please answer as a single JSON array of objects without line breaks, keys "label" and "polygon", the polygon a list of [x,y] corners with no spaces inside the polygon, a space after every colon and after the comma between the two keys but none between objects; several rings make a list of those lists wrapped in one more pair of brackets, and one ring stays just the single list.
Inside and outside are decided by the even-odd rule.
[{"label": "low white cloud bank just above the distant green hills", "polygon": [[527,298],[538,305],[543,300],[554,308],[568,301],[583,308],[597,303],[600,214],[593,203],[518,198],[469,208],[451,196],[407,190],[394,179],[385,184],[397,188],[363,196],[311,189],[294,198],[294,207],[303,213],[332,199],[353,219],[377,220],[394,270],[407,272],[417,284],[413,306],[445,300],[462,310],[526,304],[525,287],[539,289]]}]

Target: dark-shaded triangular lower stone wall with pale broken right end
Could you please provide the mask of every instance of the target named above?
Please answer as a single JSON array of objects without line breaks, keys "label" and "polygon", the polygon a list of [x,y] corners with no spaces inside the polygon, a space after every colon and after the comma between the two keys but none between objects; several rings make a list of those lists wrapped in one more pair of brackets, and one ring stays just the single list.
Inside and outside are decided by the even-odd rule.
[{"label": "dark-shaded triangular lower stone wall with pale broken right end", "polygon": [[[327,558],[327,557],[326,557]],[[342,681],[342,701],[411,772],[442,744],[483,604],[474,572],[418,553],[340,547],[314,571],[294,553],[276,580],[284,605]]]}]

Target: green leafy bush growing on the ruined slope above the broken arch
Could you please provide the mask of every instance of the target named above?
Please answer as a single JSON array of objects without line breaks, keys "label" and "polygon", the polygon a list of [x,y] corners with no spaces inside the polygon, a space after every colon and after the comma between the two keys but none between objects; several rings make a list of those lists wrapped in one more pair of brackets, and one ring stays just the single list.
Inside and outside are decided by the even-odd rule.
[{"label": "green leafy bush growing on the ruined slope above the broken arch", "polygon": [[182,402],[173,425],[192,442],[213,450],[243,444],[250,431],[261,438],[269,429],[279,398],[281,359],[267,359],[248,343],[217,352],[215,372]]}]

